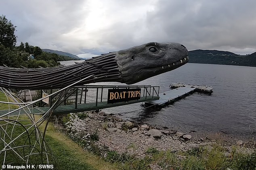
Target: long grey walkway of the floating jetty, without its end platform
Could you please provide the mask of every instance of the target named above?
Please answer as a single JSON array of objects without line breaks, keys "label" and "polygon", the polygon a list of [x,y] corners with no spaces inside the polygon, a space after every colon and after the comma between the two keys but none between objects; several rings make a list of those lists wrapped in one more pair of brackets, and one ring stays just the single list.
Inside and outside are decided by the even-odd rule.
[{"label": "long grey walkway of the floating jetty, without its end platform", "polygon": [[155,104],[158,106],[164,105],[166,103],[172,102],[176,98],[183,96],[185,94],[188,94],[192,91],[195,90],[195,87],[179,87],[175,88],[173,90],[169,90],[164,93],[159,94],[159,99],[158,100],[150,100],[146,101],[145,104]]}]

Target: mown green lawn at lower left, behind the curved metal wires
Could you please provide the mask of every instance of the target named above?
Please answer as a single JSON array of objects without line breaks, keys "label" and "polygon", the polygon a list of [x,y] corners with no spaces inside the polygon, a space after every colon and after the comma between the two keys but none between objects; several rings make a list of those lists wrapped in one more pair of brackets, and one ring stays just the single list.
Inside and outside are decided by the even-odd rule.
[{"label": "mown green lawn at lower left, behind the curved metal wires", "polygon": [[[39,117],[39,116],[37,116]],[[13,119],[16,117],[13,117]],[[21,119],[25,119],[25,116],[21,116]],[[0,120],[0,125],[2,128],[6,129],[6,125],[4,125],[4,121]],[[21,121],[22,124],[26,125],[28,124],[27,121]],[[40,127],[41,132],[43,131],[45,123],[42,127]],[[7,132],[10,134],[11,130],[13,129],[12,125],[7,126]],[[24,128],[21,126],[15,126],[15,129],[13,131],[12,139],[13,137],[17,137],[20,133],[24,131]],[[32,131],[29,131],[31,133]],[[0,137],[3,138],[3,131],[0,130]],[[34,135],[31,135],[29,138],[31,143],[34,143],[36,138]],[[111,166],[109,163],[105,162],[103,159],[101,159],[99,156],[94,156],[90,154],[87,151],[84,151],[82,147],[71,141],[68,137],[66,137],[64,134],[59,133],[55,130],[55,128],[50,123],[48,125],[47,131],[46,131],[46,137],[45,140],[47,142],[48,147],[52,151],[52,156],[48,156],[49,163],[54,164],[55,168],[58,170],[117,170],[115,166]],[[5,139],[5,141],[8,143],[9,140]],[[13,146],[19,146],[19,145],[28,145],[28,135],[24,134],[22,137],[19,137],[19,139],[14,142]],[[36,145],[36,147],[39,148],[39,145]],[[4,148],[4,143],[0,141],[0,150]],[[29,151],[28,147],[25,147],[25,149],[20,148],[16,149],[16,152],[19,152],[21,155],[27,154]],[[22,161],[20,158],[18,158],[14,152],[8,151],[6,152],[6,163],[5,164],[24,164],[24,161]],[[4,159],[4,152],[0,152],[0,163],[2,164]],[[46,164],[46,156],[42,157],[43,162],[41,162],[41,158],[39,155],[32,155],[30,157],[29,164]]]}]

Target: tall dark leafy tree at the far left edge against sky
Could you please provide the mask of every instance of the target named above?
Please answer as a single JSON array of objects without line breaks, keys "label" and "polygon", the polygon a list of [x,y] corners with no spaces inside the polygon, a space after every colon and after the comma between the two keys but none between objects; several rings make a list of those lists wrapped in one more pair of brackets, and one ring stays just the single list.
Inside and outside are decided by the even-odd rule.
[{"label": "tall dark leafy tree at the far left edge against sky", "polygon": [[0,44],[12,49],[17,41],[14,26],[4,15],[0,16]]}]

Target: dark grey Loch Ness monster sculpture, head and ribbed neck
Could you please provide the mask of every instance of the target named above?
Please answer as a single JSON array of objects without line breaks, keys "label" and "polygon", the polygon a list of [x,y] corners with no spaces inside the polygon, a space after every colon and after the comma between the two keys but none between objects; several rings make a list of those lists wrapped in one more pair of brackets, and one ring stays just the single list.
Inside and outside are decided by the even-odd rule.
[{"label": "dark grey Loch Ness monster sculpture, head and ribbed neck", "polygon": [[76,85],[95,82],[134,84],[174,70],[189,60],[179,43],[151,42],[59,68],[22,69],[0,66],[0,87],[14,89],[63,88],[88,76]]}]

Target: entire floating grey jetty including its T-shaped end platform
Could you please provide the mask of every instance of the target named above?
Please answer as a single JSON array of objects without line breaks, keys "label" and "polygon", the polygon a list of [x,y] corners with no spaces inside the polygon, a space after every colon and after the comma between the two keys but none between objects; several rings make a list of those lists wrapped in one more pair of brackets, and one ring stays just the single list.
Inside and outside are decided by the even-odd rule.
[{"label": "entire floating grey jetty including its T-shaped end platform", "polygon": [[156,106],[163,106],[193,91],[211,93],[213,90],[212,86],[207,86],[207,85],[196,86],[196,85],[190,85],[190,84],[187,85],[185,83],[179,83],[179,82],[171,84],[170,88],[172,88],[172,90],[169,90],[164,93],[160,93],[158,100],[145,101],[145,104],[155,104]]}]

